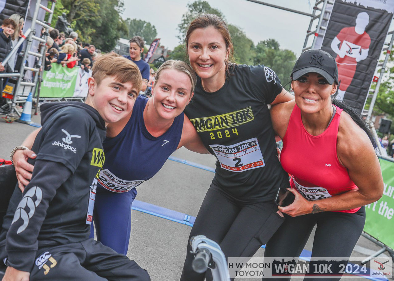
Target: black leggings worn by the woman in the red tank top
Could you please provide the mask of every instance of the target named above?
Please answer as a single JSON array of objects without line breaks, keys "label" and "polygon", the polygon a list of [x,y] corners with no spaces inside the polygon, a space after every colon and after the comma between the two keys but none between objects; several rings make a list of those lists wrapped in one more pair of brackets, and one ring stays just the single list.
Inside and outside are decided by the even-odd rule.
[{"label": "black leggings worn by the woman in the red tank top", "polygon": [[[286,219],[269,239],[264,257],[299,257],[317,224],[313,239],[312,257],[350,257],[360,238],[365,223],[365,207],[356,213],[322,212]],[[323,280],[339,280],[341,276]],[[286,281],[290,278],[263,278],[263,280]],[[306,278],[312,281],[314,278]],[[322,280],[322,278],[316,278]]]}]

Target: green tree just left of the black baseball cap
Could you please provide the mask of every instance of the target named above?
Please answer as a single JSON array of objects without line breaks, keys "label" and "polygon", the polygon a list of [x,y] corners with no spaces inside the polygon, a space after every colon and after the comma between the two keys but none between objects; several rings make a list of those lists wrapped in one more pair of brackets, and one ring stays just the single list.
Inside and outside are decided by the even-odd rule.
[{"label": "green tree just left of the black baseball cap", "polygon": [[297,58],[294,52],[282,50],[275,39],[260,41],[255,52],[256,56],[253,61],[255,65],[266,65],[272,68],[281,79],[282,85],[290,83],[290,74]]}]

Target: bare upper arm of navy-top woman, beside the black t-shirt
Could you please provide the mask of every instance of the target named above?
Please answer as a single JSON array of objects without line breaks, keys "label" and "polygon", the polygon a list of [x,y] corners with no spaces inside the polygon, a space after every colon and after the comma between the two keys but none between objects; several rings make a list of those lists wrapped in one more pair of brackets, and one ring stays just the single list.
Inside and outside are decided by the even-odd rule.
[{"label": "bare upper arm of navy-top woman, beside the black t-shirt", "polygon": [[184,115],[182,136],[180,137],[178,148],[181,148],[182,146],[197,153],[209,153],[208,150],[206,150],[199,135],[197,134],[193,124],[191,124],[189,118],[186,115]]}]

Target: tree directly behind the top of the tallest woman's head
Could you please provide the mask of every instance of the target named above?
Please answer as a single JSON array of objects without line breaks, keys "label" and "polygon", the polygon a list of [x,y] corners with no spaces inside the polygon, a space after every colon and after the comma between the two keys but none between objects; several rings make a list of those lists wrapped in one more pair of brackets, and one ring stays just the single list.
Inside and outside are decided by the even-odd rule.
[{"label": "tree directly behind the top of the tallest woman's head", "polygon": [[212,8],[207,1],[197,0],[193,3],[188,4],[188,11],[182,15],[182,20],[180,24],[178,24],[179,35],[177,36],[180,40],[180,43],[184,42],[186,37],[186,31],[188,31],[188,27],[190,22],[202,14],[215,14],[219,17],[225,19],[221,11],[218,9]]}]

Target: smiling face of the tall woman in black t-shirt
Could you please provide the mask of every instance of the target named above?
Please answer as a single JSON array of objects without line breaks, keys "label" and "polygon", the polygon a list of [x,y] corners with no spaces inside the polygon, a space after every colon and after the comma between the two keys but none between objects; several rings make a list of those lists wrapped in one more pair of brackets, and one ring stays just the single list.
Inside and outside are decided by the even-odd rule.
[{"label": "smiling face of the tall woman in black t-shirt", "polygon": [[188,40],[190,65],[201,79],[225,81],[225,60],[229,49],[221,33],[214,27],[197,28]]}]

